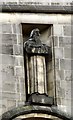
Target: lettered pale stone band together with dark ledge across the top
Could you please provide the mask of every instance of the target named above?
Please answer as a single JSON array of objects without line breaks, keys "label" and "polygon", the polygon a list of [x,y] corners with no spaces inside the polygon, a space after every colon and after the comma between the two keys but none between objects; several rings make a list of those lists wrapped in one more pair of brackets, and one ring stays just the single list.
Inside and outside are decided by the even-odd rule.
[{"label": "lettered pale stone band together with dark ledge across the top", "polygon": [[[53,13],[71,13],[72,1],[61,2],[61,1],[2,1],[0,2],[2,11],[31,11],[35,12],[53,12]],[[9,7],[8,7],[9,6]],[[16,7],[15,7],[16,6]],[[30,7],[31,6],[31,7]],[[43,7],[43,9],[42,9]]]}]

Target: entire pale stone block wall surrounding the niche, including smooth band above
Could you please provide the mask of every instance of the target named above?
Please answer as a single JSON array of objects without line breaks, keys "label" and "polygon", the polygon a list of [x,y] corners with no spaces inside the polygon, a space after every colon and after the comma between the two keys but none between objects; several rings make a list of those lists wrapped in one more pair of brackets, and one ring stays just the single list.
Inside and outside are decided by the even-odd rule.
[{"label": "entire pale stone block wall surrounding the niche, including smooth band above", "polygon": [[70,112],[73,84],[71,15],[0,13],[0,18],[0,77],[2,77],[0,111],[4,113],[15,106],[24,104],[26,98],[21,23],[39,23],[52,25],[53,33],[48,41],[51,41],[54,46],[54,82],[57,104],[63,111]]}]

